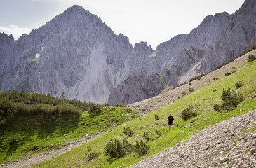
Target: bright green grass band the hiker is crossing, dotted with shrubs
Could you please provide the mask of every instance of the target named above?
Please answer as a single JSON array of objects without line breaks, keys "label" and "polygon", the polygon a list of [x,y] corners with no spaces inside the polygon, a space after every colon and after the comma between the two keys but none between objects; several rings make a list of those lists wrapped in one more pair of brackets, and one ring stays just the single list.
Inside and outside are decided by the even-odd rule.
[{"label": "bright green grass band the hiker is crossing, dotted with shrubs", "polygon": [[[225,66],[223,68],[225,68]],[[212,73],[212,75],[214,74]],[[139,160],[147,158],[150,155],[154,155],[155,153],[159,153],[159,151],[163,151],[164,149],[177,144],[177,142],[182,139],[187,139],[191,134],[194,134],[209,125],[220,123],[232,116],[238,116],[243,113],[248,113],[248,111],[251,111],[252,109],[256,109],[256,99],[249,98],[256,94],[255,76],[256,61],[244,62],[241,66],[237,67],[236,73],[233,73],[230,76],[218,76],[220,78],[219,80],[212,80],[207,84],[207,86],[196,88],[195,92],[182,97],[177,102],[168,104],[168,106],[154,111],[153,113],[140,117],[142,120],[136,118],[135,120],[120,125],[116,130],[108,132],[102,137],[60,155],[57,158],[43,162],[36,167],[128,167],[129,165],[133,165],[133,163],[138,162]],[[248,80],[250,80],[250,83],[247,83]],[[243,83],[245,83],[245,85],[238,90],[236,90],[235,87],[235,83],[237,81],[243,81]],[[190,86],[188,85],[186,87]],[[236,92],[240,91],[245,100],[241,102],[241,104],[238,104],[236,109],[229,111],[229,113],[217,113],[213,110],[213,106],[216,103],[220,103],[222,90],[227,87],[231,87],[231,90],[235,90]],[[213,92],[213,89],[215,88],[217,91]],[[194,111],[199,115],[195,118],[184,121],[179,116],[182,109],[185,109],[188,104],[196,106]],[[157,122],[154,119],[154,114],[156,113],[160,118]],[[169,113],[172,113],[175,118],[172,130],[168,130],[166,120]],[[127,138],[123,135],[124,126],[132,128],[135,132],[133,137]],[[185,126],[189,127],[185,128]],[[161,130],[161,137],[156,136],[156,129]],[[136,153],[131,153],[119,159],[109,159],[103,155],[106,142],[110,139],[126,139],[130,142],[134,142],[137,139],[143,139],[142,135],[145,131],[149,132],[151,137],[151,141],[148,142],[151,147],[148,155],[140,157]],[[88,162],[85,158],[87,146],[90,146],[93,150],[100,152],[101,155],[99,158]]]}]

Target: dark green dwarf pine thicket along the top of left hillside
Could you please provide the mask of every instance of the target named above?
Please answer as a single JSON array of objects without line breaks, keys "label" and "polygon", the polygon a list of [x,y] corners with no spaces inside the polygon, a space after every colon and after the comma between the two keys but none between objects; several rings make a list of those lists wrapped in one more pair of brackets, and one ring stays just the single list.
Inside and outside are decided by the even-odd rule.
[{"label": "dark green dwarf pine thicket along the top of left hillside", "polygon": [[48,117],[60,113],[81,115],[82,111],[100,113],[101,107],[100,104],[67,100],[64,97],[58,99],[50,95],[27,93],[23,89],[20,92],[12,90],[9,93],[0,92],[0,123],[4,123],[3,116],[13,118],[18,114],[39,113]]}]

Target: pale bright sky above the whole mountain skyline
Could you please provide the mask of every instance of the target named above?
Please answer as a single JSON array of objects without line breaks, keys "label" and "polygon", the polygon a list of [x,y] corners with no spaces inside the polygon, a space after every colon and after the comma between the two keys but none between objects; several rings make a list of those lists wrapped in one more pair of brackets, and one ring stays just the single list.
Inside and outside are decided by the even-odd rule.
[{"label": "pale bright sky above the whole mountain skyline", "polygon": [[15,39],[29,34],[76,4],[98,15],[115,34],[133,45],[152,48],[178,34],[188,34],[207,15],[234,13],[244,0],[0,0],[0,32]]}]

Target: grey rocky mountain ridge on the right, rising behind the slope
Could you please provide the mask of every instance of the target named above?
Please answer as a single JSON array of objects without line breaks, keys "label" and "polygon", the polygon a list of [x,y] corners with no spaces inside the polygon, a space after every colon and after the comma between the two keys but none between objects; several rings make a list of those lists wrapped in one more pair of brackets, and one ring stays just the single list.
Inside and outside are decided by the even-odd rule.
[{"label": "grey rocky mountain ridge on the right, rising behind the slope", "polygon": [[[161,43],[152,54],[161,65],[156,73],[161,74],[168,85],[175,86],[241,55],[248,50],[246,47],[256,35],[255,9],[256,1],[245,0],[236,13],[206,16],[189,34],[178,35]],[[255,43],[252,41],[249,47],[253,45]],[[109,99],[112,102],[112,97]]]}]

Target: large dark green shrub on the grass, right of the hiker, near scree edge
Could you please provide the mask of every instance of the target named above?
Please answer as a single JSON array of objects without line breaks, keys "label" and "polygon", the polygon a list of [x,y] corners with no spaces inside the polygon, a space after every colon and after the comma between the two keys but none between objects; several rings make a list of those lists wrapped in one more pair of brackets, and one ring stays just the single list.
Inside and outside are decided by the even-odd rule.
[{"label": "large dark green shrub on the grass, right of the hiker, near scree edge", "polygon": [[243,96],[238,92],[231,92],[230,87],[222,92],[222,105],[215,104],[213,107],[215,111],[224,113],[224,110],[232,110],[237,107],[237,105],[243,101]]}]

